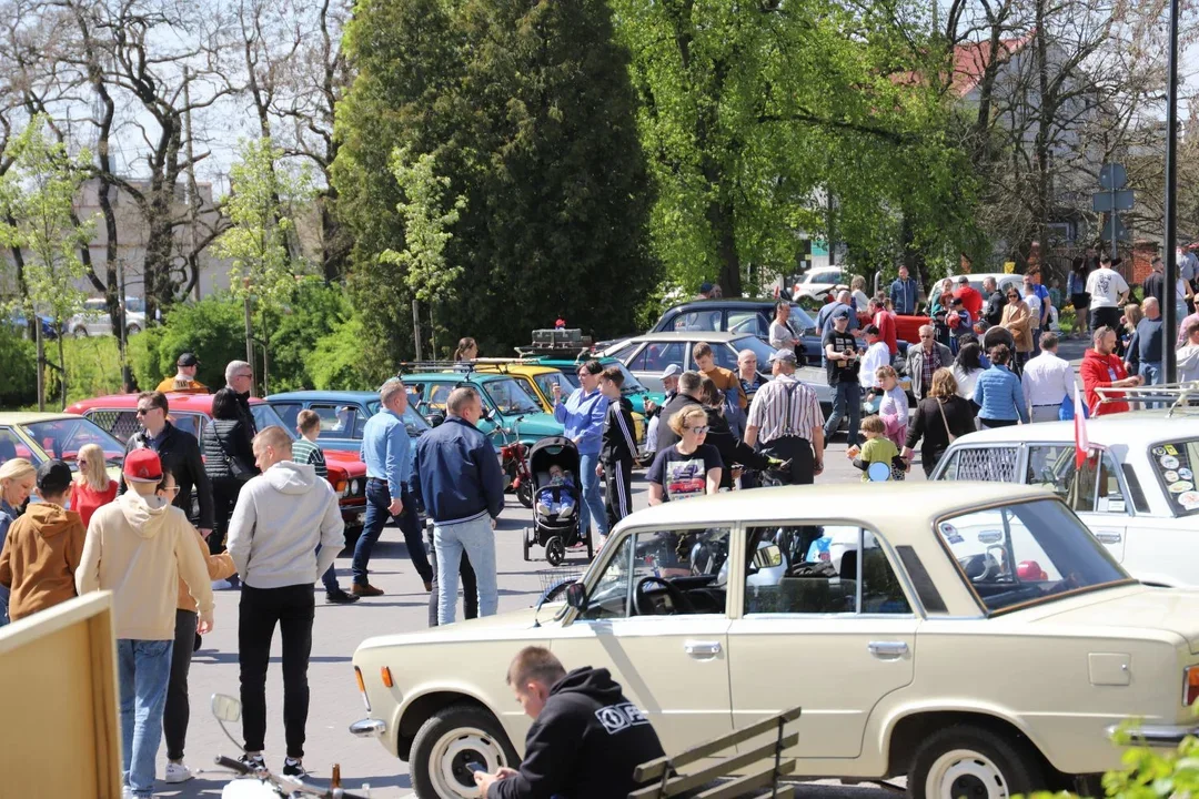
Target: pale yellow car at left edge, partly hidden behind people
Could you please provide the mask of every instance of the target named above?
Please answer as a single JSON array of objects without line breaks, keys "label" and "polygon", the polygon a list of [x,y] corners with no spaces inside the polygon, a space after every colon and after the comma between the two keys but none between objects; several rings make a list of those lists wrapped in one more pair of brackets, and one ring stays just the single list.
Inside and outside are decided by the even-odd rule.
[{"label": "pale yellow car at left edge, partly hidden behind people", "polygon": [[84,444],[100,444],[109,474],[120,473],[125,446],[94,422],[76,413],[0,412],[0,464],[24,458],[40,466],[58,459],[76,471]]}]

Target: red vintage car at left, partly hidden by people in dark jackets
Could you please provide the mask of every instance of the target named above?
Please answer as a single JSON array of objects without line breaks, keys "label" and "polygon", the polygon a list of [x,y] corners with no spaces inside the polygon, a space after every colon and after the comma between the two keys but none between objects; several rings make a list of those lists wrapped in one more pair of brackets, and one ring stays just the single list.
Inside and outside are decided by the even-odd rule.
[{"label": "red vintage car at left, partly hidden by people in dark jackets", "polygon": [[[191,432],[197,438],[204,435],[204,428],[212,418],[211,394],[167,394],[170,406],[169,419],[180,430]],[[137,394],[112,394],[82,400],[67,408],[67,413],[78,413],[95,422],[113,435],[121,444],[141,429],[137,417]],[[249,410],[254,414],[258,429],[277,424],[288,431],[293,438],[295,430],[289,428],[279,414],[265,400],[252,398]],[[362,531],[367,512],[367,467],[359,460],[356,452],[338,452],[323,449],[329,467],[329,482],[337,491],[342,507],[342,520],[345,522],[345,538],[354,540]]]}]

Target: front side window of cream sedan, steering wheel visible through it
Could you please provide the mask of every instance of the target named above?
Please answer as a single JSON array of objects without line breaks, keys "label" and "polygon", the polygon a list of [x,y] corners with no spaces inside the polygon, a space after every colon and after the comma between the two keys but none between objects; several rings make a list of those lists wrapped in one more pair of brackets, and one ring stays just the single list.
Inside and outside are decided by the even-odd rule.
[{"label": "front side window of cream sedan, steering wheel visible through it", "polygon": [[583,619],[724,613],[730,528],[641,531],[625,538]]}]

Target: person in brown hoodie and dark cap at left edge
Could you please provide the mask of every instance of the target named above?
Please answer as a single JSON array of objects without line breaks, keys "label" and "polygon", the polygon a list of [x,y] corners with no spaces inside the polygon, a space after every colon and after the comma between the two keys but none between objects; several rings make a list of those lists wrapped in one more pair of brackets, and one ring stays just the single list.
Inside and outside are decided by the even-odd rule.
[{"label": "person in brown hoodie and dark cap at left edge", "polygon": [[48,460],[37,467],[37,496],[8,528],[0,550],[0,585],[11,591],[8,617],[16,622],[76,595],[74,570],[83,556],[79,514],[64,510],[71,467]]}]

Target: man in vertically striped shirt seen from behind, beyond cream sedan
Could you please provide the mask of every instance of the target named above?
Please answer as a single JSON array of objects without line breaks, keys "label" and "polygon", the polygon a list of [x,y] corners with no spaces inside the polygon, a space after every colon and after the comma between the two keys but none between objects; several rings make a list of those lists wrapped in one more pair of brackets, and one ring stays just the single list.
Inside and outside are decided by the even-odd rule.
[{"label": "man in vertically striped shirt seen from behind, beyond cream sedan", "polygon": [[770,356],[775,379],[758,389],[749,406],[746,443],[760,443],[772,458],[791,461],[793,485],[811,484],[824,471],[824,413],[811,387],[795,377],[795,353]]}]

